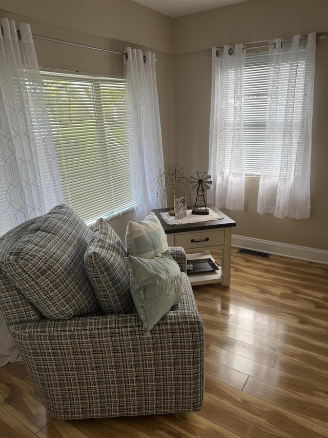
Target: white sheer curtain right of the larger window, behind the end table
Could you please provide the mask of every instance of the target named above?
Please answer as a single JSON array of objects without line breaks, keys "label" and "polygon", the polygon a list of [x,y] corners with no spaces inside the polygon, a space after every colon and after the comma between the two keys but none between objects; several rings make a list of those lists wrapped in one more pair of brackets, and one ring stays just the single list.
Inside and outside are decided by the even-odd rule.
[{"label": "white sheer curtain right of the larger window, behind the end table", "polygon": [[143,220],[153,208],[166,207],[164,187],[156,181],[164,163],[155,55],[130,47],[126,53],[123,59],[134,219]]}]

